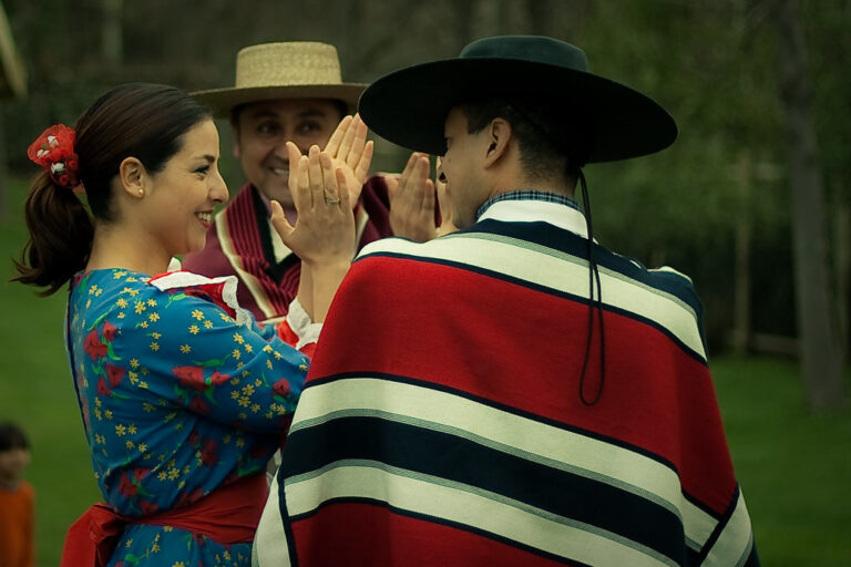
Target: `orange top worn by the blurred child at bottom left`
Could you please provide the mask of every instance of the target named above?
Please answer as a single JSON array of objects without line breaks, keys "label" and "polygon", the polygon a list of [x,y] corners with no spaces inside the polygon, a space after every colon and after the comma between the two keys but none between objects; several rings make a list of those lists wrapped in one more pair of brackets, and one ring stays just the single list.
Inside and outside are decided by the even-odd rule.
[{"label": "orange top worn by the blurred child at bottom left", "polygon": [[29,483],[0,488],[0,567],[34,567],[33,504]]}]

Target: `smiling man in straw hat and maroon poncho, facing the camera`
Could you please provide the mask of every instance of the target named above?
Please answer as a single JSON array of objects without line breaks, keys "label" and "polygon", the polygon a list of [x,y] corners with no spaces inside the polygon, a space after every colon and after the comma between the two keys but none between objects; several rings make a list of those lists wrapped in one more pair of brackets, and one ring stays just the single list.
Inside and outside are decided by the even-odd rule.
[{"label": "smiling man in straw hat and maroon poncho, facing the camera", "polygon": [[[269,199],[284,206],[290,223],[296,217],[287,142],[305,154],[315,144],[337,156],[349,186],[358,190],[352,203],[359,248],[392,234],[385,178],[367,177],[372,155],[367,127],[357,116],[344,118],[365,86],[342,82],[334,45],[281,42],[240,50],[235,86],[193,93],[218,116],[230,118],[234,154],[248,181],[216,217],[205,249],[188,255],[183,265],[211,277],[236,275],[239,303],[257,320],[286,315],[298,290],[300,260],[268,220]],[[396,208],[394,214],[404,214],[403,207]]]}]

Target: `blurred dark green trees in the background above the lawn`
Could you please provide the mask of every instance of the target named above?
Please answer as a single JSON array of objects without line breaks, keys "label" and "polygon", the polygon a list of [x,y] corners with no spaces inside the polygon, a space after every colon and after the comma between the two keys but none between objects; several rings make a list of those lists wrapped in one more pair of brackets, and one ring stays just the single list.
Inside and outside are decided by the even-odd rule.
[{"label": "blurred dark green trees in the background above the lawn", "polygon": [[[125,81],[189,91],[229,86],[237,50],[254,43],[332,43],[352,82],[453,58],[484,35],[575,43],[593,72],[654,97],[680,128],[674,146],[657,155],[586,167],[597,239],[693,277],[712,355],[800,357],[810,405],[843,404],[839,369],[851,347],[851,75],[844,69],[851,0],[3,0],[3,7],[29,75],[25,99],[0,101],[0,172],[19,178],[33,172],[29,143],[50,124],[73,124],[107,87]],[[229,158],[227,124],[219,131],[233,189],[243,179]],[[399,171],[407,151],[382,141],[377,147],[373,168]],[[807,337],[810,347],[800,340]]]}]

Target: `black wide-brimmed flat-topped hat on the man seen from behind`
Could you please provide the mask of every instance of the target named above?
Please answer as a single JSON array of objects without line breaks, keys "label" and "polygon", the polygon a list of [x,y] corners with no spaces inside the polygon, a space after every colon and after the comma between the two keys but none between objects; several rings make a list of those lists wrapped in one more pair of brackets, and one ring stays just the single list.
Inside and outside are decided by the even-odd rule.
[{"label": "black wide-brimmed flat-topped hat on the man seen from behind", "polygon": [[[585,52],[536,35],[485,38],[457,59],[389,73],[360,96],[363,122],[394,144],[443,155],[449,111],[465,102],[541,101],[555,109],[560,128],[583,124],[587,163],[612,162],[664,150],[677,137],[668,112],[644,94],[587,71]],[[551,124],[552,125],[552,124]],[[568,134],[570,135],[570,134]]]}]

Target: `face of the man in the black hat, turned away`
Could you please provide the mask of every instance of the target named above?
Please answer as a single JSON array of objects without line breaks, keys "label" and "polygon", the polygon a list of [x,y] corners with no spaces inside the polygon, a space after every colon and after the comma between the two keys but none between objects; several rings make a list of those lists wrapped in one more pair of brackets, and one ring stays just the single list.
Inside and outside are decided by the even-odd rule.
[{"label": "face of the man in the black hat, turned away", "polygon": [[475,212],[488,198],[482,177],[482,161],[488,153],[488,128],[468,133],[466,116],[459,106],[447,115],[447,153],[440,162],[439,176],[452,195],[453,220],[459,228],[475,221]]}]

